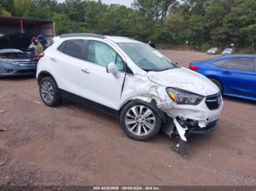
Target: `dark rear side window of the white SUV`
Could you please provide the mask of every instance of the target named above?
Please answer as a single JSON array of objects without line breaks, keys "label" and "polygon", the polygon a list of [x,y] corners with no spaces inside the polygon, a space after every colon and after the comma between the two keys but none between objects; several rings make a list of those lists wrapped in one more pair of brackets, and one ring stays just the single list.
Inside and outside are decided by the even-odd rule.
[{"label": "dark rear side window of the white SUV", "polygon": [[81,52],[83,50],[83,40],[74,39],[67,40],[59,46],[58,50],[66,55],[70,55],[75,58],[81,58]]}]

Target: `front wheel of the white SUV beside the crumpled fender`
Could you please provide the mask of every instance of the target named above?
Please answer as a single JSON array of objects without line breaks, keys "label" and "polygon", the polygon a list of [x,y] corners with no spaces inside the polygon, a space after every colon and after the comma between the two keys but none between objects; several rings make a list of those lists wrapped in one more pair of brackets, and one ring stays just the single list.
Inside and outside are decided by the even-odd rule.
[{"label": "front wheel of the white SUV beside the crumpled fender", "polygon": [[162,125],[157,112],[152,107],[139,102],[130,102],[124,106],[120,114],[120,123],[124,133],[136,141],[153,139]]}]

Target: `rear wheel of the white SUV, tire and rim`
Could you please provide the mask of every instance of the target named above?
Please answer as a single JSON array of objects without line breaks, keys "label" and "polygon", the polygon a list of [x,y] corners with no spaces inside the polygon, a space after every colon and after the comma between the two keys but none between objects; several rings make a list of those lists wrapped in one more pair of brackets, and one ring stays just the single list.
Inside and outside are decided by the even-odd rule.
[{"label": "rear wheel of the white SUV, tire and rim", "polygon": [[44,77],[41,79],[39,82],[39,93],[45,105],[53,107],[61,104],[59,87],[52,77]]}]

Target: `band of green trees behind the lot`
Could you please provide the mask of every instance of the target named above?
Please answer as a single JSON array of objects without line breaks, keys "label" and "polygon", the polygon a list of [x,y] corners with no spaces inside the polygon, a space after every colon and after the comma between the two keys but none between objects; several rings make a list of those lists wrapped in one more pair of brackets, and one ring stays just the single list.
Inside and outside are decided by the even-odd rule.
[{"label": "band of green trees behind the lot", "polygon": [[234,43],[255,52],[255,0],[134,0],[132,8],[89,0],[0,0],[0,15],[53,20],[56,34],[130,36],[197,50]]}]

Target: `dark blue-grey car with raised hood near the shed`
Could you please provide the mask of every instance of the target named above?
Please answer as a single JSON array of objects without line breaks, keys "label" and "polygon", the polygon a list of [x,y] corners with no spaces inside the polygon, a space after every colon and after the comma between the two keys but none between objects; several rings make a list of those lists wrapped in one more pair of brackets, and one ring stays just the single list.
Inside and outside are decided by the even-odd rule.
[{"label": "dark blue-grey car with raised hood near the shed", "polygon": [[26,34],[0,34],[0,77],[36,74],[38,59],[29,44]]}]

